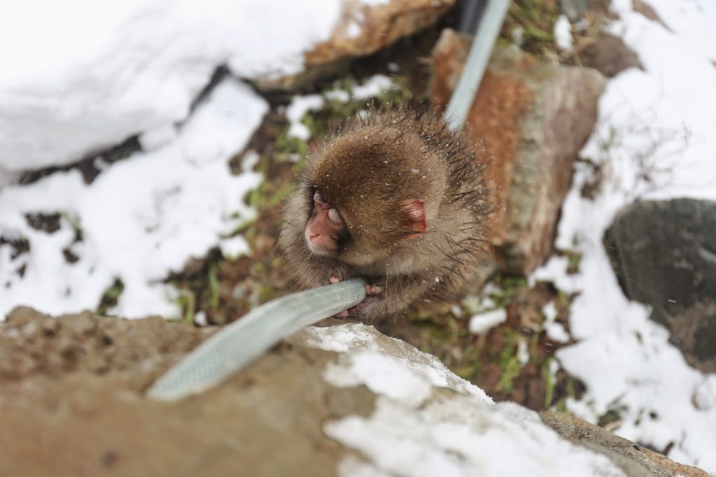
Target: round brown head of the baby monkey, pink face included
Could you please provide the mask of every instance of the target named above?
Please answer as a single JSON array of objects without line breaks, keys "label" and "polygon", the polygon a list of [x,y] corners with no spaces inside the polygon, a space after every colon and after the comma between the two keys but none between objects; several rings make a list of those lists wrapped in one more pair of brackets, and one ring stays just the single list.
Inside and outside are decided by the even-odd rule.
[{"label": "round brown head of the baby monkey, pink face included", "polygon": [[353,266],[386,262],[426,230],[426,203],[435,211],[444,175],[444,161],[405,127],[342,133],[311,158],[299,180],[308,248]]}]

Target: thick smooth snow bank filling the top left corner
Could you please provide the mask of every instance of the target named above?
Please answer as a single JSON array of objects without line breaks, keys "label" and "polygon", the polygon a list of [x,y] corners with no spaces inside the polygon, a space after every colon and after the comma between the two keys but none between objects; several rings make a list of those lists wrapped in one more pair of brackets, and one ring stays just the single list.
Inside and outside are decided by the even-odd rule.
[{"label": "thick smooth snow bank filling the top left corner", "polygon": [[[295,74],[340,0],[30,0],[0,6],[0,176],[185,120],[224,64]],[[42,11],[42,14],[38,14]],[[281,14],[277,15],[276,12]]]}]

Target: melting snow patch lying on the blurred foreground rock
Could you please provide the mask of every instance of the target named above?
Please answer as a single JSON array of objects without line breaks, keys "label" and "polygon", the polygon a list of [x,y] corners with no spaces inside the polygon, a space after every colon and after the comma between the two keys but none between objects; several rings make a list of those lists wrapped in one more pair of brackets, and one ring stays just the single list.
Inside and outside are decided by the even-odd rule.
[{"label": "melting snow patch lying on the blurred foreground rock", "polygon": [[301,344],[343,353],[324,370],[327,382],[365,385],[377,395],[371,415],[324,424],[327,435],[362,456],[346,458],[340,476],[624,476],[533,411],[493,403],[432,355],[372,327],[309,327]]}]

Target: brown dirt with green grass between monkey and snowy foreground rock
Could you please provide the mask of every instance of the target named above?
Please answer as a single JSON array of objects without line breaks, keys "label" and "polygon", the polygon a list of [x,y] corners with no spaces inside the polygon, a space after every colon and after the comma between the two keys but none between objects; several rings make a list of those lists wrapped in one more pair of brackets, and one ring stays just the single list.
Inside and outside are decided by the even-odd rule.
[{"label": "brown dirt with green grass between monkey and snowy foreground rock", "polygon": [[[503,279],[498,277],[495,281]],[[569,330],[569,300],[546,283],[533,288],[523,283],[505,291],[504,299],[506,322],[485,334],[470,332],[469,316],[456,317],[447,310],[422,316],[408,314],[377,328],[437,356],[455,374],[474,382],[495,401],[509,400],[533,410],[565,410],[566,398],[579,397],[584,385],[563,370],[549,377],[554,352],[569,343],[547,337],[541,309],[548,302],[562,301],[556,305],[556,322]],[[527,345],[529,357],[524,366],[517,357],[520,341]]]}]

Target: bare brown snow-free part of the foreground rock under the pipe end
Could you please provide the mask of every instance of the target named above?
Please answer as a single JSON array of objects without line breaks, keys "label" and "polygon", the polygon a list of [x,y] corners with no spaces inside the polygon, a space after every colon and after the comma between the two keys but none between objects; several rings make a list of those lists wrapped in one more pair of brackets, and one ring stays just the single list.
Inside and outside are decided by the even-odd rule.
[{"label": "bare brown snow-free part of the foreground rock under the pipe end", "polygon": [[[321,426],[373,408],[365,387],[323,380],[334,353],[288,345],[215,390],[153,402],[147,385],[208,333],[85,312],[58,318],[53,335],[47,320],[16,309],[0,329],[0,356],[34,363],[0,378],[0,476],[334,476],[345,451]],[[62,337],[74,346],[58,367],[48,356]],[[98,357],[108,369],[94,369]]]}]

